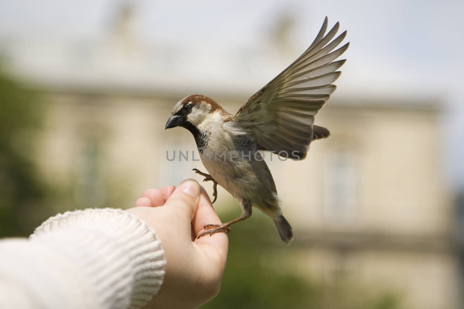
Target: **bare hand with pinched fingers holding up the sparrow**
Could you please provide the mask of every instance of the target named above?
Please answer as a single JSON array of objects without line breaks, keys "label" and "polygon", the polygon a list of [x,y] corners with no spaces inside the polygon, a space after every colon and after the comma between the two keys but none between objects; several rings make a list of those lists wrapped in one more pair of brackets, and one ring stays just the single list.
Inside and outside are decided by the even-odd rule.
[{"label": "bare hand with pinched fingers holding up the sparrow", "polygon": [[198,308],[219,293],[228,238],[196,239],[206,224],[221,223],[203,187],[187,179],[177,189],[148,189],[127,211],[155,229],[166,256],[161,290],[145,308]]}]

